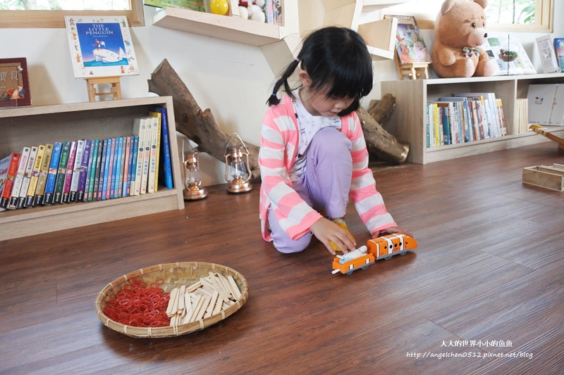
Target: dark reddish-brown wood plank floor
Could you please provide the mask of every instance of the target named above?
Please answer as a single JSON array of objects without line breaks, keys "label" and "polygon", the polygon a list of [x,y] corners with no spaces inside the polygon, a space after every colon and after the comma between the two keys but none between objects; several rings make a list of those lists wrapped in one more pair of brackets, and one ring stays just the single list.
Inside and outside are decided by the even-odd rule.
[{"label": "dark reddish-brown wood plank floor", "polygon": [[[378,168],[388,210],[419,247],[350,276],[331,274],[319,242],[296,255],[264,242],[258,186],[0,242],[0,372],[563,374],[564,193],[521,183],[522,167],[552,163],[564,153],[545,143]],[[347,219],[366,241],[352,205]],[[176,261],[228,265],[250,298],[176,338],[99,322],[94,300],[109,281]]]}]

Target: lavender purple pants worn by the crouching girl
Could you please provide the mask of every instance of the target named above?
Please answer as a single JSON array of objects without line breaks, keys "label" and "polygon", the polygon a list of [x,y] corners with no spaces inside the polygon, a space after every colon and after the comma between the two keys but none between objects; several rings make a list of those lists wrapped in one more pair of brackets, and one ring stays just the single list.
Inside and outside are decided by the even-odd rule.
[{"label": "lavender purple pants worn by the crouching girl", "polygon": [[[293,189],[314,210],[325,210],[327,217],[343,217],[347,210],[353,158],[350,139],[335,128],[326,127],[314,135],[307,148],[305,173],[293,183]],[[298,253],[312,240],[308,231],[292,240],[278,224],[269,208],[269,224],[274,247],[281,253]]]}]

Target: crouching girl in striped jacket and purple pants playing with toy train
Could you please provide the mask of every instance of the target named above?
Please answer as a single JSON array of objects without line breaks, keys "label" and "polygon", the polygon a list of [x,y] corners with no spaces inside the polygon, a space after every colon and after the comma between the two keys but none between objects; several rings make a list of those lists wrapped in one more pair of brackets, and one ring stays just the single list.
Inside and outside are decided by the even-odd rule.
[{"label": "crouching girl in striped jacket and purple pants playing with toy train", "polygon": [[[300,68],[300,87],[288,78]],[[304,250],[316,236],[327,250],[348,253],[348,198],[372,237],[411,234],[386,211],[355,110],[372,90],[372,58],[357,32],[325,27],[309,35],[274,84],[262,125],[262,236],[281,253]],[[276,94],[283,86],[287,96]],[[320,212],[324,212],[322,215]]]}]

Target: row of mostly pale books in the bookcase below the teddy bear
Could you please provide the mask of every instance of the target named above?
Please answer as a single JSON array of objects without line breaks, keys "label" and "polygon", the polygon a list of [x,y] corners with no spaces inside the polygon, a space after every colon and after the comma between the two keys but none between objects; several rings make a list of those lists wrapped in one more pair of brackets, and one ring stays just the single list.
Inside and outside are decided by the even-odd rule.
[{"label": "row of mostly pale books in the bookcase below the teddy bear", "polygon": [[427,147],[507,135],[503,104],[494,93],[460,93],[427,103]]}]

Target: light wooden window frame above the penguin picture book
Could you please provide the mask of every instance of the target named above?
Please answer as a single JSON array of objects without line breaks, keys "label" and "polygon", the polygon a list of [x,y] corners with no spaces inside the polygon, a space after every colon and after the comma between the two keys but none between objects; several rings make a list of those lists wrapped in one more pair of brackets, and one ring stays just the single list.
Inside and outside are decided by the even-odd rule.
[{"label": "light wooden window frame above the penguin picture book", "polygon": [[144,26],[142,0],[131,0],[129,11],[0,11],[0,28],[64,28],[66,15],[126,15],[130,26]]}]

